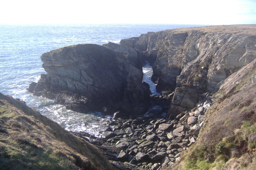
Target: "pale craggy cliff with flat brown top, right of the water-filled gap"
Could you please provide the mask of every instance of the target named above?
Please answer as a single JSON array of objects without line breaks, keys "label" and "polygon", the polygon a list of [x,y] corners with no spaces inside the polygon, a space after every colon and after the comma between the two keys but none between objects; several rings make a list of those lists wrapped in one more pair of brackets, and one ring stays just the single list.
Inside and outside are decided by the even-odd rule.
[{"label": "pale craggy cliff with flat brown top, right of the water-filled gap", "polygon": [[[215,93],[227,77],[256,58],[256,27],[209,26],[149,32],[122,40],[120,45],[142,51],[153,64],[152,80],[159,92],[175,91],[170,110],[175,113],[195,107],[198,94]],[[224,87],[228,87],[227,82]]]}]

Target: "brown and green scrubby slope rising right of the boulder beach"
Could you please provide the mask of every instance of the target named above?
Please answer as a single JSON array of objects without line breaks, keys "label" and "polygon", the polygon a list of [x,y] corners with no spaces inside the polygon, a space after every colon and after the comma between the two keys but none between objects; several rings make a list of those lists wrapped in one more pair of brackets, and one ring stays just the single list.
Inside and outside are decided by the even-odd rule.
[{"label": "brown and green scrubby slope rising right of the boulder beach", "polygon": [[218,92],[224,96],[207,110],[199,140],[169,169],[256,169],[256,82],[244,79],[236,90],[226,95]]}]

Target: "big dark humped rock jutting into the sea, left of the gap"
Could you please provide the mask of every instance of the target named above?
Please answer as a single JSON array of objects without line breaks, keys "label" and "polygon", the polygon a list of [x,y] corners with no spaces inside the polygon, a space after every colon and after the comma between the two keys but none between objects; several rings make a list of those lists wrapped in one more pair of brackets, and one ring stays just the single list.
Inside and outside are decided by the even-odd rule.
[{"label": "big dark humped rock jutting into the sea, left of the gap", "polygon": [[94,44],[59,48],[41,56],[47,74],[28,90],[73,111],[142,114],[150,91],[134,58],[133,49],[126,55]]}]

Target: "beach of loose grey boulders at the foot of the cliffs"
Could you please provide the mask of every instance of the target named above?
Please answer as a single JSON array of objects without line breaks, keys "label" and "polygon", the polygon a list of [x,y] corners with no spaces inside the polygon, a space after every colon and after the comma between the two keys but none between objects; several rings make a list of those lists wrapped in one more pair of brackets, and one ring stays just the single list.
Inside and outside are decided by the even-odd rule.
[{"label": "beach of loose grey boulders at the foot of the cliffs", "polygon": [[76,135],[86,137],[112,164],[122,164],[119,167],[122,170],[160,170],[168,167],[179,161],[181,152],[198,139],[199,130],[204,125],[204,113],[214,99],[209,93],[202,94],[197,107],[168,120],[169,97],[151,95],[158,105],[136,119],[113,116],[105,129],[105,138],[84,133]]}]

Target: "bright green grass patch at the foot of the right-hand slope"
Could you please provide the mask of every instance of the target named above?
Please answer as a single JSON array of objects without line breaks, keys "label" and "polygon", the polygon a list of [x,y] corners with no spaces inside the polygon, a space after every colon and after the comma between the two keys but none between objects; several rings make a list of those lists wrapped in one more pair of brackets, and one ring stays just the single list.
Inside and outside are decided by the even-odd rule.
[{"label": "bright green grass patch at the foot of the right-hand slope", "polygon": [[[182,158],[183,170],[224,170],[232,159],[243,159],[244,154],[254,154],[256,148],[256,123],[244,122],[231,136],[215,144],[215,149],[206,152],[203,146],[191,149],[188,156]],[[232,152],[237,151],[238,154]],[[212,155],[214,159],[209,159]],[[250,166],[251,161],[237,161],[240,167]]]}]

